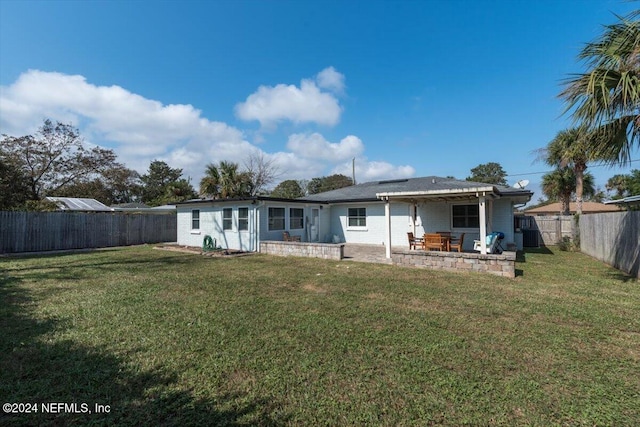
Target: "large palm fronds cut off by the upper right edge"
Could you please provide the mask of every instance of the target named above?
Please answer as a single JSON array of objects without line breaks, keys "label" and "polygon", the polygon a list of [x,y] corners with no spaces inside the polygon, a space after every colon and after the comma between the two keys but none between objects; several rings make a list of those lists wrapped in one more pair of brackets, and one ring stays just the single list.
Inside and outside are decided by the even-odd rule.
[{"label": "large palm fronds cut off by the upper right edge", "polygon": [[578,58],[588,67],[564,83],[560,97],[576,123],[595,132],[592,147],[604,158],[627,164],[640,145],[640,10],[605,26]]}]

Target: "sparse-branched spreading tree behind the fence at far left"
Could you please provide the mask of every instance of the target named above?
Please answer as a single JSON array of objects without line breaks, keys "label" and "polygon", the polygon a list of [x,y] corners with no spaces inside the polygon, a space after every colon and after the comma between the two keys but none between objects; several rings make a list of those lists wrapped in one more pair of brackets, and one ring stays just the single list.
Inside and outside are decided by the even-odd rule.
[{"label": "sparse-branched spreading tree behind the fence at far left", "polygon": [[118,165],[112,150],[88,149],[76,128],[48,119],[35,135],[3,135],[0,157],[22,171],[30,200],[39,200]]}]

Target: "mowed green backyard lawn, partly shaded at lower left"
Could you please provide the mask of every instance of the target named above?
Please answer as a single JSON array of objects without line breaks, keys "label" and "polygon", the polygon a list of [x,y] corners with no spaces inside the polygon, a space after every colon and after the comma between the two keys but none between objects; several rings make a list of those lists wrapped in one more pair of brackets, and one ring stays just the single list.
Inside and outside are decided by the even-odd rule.
[{"label": "mowed green backyard lawn, partly shaded at lower left", "polygon": [[637,425],[640,287],[136,247],[0,259],[0,424]]}]

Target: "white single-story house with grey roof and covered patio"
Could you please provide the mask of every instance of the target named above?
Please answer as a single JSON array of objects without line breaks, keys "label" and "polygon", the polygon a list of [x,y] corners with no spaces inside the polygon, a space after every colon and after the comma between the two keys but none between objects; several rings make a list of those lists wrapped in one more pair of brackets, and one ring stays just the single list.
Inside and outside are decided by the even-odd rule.
[{"label": "white single-story house with grey roof and covered patio", "polygon": [[464,250],[490,231],[516,243],[513,212],[533,193],[493,184],[423,177],[374,181],[301,199],[196,199],[177,204],[178,244],[201,246],[210,235],[223,248],[259,251],[283,232],[303,242],[406,247],[407,232],[465,233]]}]

